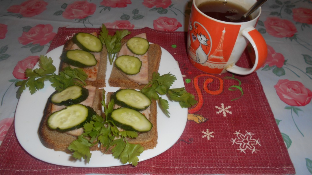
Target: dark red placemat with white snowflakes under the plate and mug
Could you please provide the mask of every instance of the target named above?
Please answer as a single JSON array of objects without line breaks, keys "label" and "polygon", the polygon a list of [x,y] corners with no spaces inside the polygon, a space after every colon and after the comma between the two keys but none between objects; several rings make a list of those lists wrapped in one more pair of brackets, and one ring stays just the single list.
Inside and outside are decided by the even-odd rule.
[{"label": "dark red placemat with white snowflakes under the plate and mug", "polygon": [[[77,32],[93,31],[99,29],[59,28],[48,51],[63,45]],[[185,130],[176,144],[136,167],[65,167],[27,154],[18,143],[12,125],[0,147],[1,174],[295,174],[256,73],[247,76],[203,73],[187,59],[185,32],[150,28],[129,31],[131,35],[127,37],[147,33],[150,42],[173,55],[186,90],[198,101],[188,110]],[[110,32],[113,34],[115,30]],[[249,66],[246,52],[240,60],[238,65]]]}]

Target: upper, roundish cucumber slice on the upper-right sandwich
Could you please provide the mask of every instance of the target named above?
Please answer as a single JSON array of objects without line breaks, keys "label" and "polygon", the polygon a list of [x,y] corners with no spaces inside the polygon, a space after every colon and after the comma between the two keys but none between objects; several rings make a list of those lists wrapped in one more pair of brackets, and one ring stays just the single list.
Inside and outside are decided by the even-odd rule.
[{"label": "upper, roundish cucumber slice on the upper-right sandwich", "polygon": [[137,55],[143,55],[149,50],[149,41],[140,37],[132,37],[127,41],[128,49]]}]

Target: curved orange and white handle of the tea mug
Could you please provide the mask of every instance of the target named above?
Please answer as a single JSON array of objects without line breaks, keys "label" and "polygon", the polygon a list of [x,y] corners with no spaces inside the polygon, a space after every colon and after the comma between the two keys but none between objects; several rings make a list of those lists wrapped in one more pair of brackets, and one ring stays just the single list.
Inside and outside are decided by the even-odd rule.
[{"label": "curved orange and white handle of the tea mug", "polygon": [[263,36],[254,27],[251,26],[242,30],[242,35],[246,37],[255,50],[255,64],[252,68],[242,68],[233,64],[226,69],[232,73],[247,75],[258,70],[265,63],[268,54],[268,48]]}]

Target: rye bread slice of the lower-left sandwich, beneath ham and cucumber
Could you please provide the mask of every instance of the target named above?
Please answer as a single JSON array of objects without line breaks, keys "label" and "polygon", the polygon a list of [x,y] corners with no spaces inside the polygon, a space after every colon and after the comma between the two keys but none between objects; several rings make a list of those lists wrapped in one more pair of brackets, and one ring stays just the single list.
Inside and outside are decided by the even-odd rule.
[{"label": "rye bread slice of the lower-left sandwich, beneath ham and cucumber", "polygon": [[[102,89],[96,88],[95,90],[95,96],[93,100],[93,106],[90,106],[94,109],[94,111],[101,115],[102,113]],[[51,95],[52,96],[52,95]],[[67,149],[67,147],[71,144],[72,141],[76,140],[78,137],[66,134],[65,132],[60,132],[57,130],[51,130],[47,126],[47,119],[51,115],[51,107],[52,103],[50,102],[51,96],[49,97],[46,107],[44,109],[44,115],[41,119],[38,134],[41,143],[50,149],[54,149],[55,151],[64,151],[69,153],[70,151]],[[93,150],[99,150],[98,145],[95,145],[90,148],[91,151]]]}]

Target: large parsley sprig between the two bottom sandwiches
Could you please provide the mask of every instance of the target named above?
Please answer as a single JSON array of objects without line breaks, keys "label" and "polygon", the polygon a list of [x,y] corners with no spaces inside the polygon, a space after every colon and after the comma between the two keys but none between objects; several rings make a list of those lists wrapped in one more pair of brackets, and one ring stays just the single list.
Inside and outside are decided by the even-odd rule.
[{"label": "large parsley sprig between the two bottom sandwiches", "polygon": [[[101,103],[104,107],[105,115],[108,116],[113,111],[115,102],[112,99],[108,106],[105,105],[104,90]],[[138,164],[138,156],[144,151],[144,148],[140,144],[130,144],[126,139],[127,137],[136,138],[138,136],[137,132],[119,131],[113,121],[108,120],[107,117],[104,119],[99,115],[94,115],[92,121],[86,123],[83,127],[84,133],[78,136],[78,139],[74,140],[68,147],[73,152],[74,158],[83,158],[89,163],[91,157],[90,148],[100,143],[106,150],[113,147],[111,149],[113,156],[120,159],[121,163],[129,162],[133,166]]]}]

